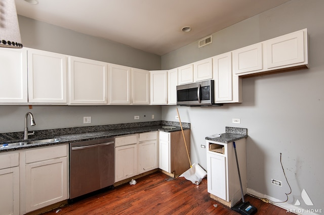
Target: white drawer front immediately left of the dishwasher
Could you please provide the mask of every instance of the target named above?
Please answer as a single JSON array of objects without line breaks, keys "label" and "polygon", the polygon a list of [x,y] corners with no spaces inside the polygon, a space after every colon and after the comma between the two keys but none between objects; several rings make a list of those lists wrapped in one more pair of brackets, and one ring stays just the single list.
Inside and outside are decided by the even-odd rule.
[{"label": "white drawer front immediately left of the dishwasher", "polygon": [[26,151],[26,164],[66,156],[67,147],[65,144],[46,148],[31,149]]}]

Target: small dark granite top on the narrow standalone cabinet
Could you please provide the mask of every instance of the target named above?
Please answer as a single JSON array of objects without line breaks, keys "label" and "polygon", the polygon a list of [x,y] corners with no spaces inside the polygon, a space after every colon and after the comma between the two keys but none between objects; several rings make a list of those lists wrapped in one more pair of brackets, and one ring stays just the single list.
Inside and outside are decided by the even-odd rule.
[{"label": "small dark granite top on the narrow standalone cabinet", "polygon": [[215,142],[230,143],[247,137],[248,129],[246,128],[225,127],[225,133],[221,134],[219,137],[213,137],[213,135],[211,135],[205,139]]}]

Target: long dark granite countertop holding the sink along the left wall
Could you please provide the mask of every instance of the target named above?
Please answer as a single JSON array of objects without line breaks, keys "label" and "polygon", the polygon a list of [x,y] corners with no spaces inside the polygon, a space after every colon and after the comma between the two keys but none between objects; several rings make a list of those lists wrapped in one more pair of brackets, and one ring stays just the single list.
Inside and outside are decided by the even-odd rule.
[{"label": "long dark granite countertop holding the sink along the left wall", "polygon": [[[134,127],[133,127],[134,126]],[[172,126],[173,128],[164,128]],[[183,129],[190,129],[189,123],[182,123]],[[20,132],[16,133],[6,133],[0,134],[0,152],[14,151],[26,148],[43,147],[49,145],[66,144],[79,141],[104,139],[109,137],[145,133],[151,131],[164,131],[164,132],[175,132],[181,131],[180,124],[176,122],[154,122],[154,123],[132,123],[132,124],[115,124],[106,126],[89,126],[89,127],[79,127],[79,128],[68,128],[68,129],[54,129],[54,130],[42,130],[37,131],[38,137],[29,139],[39,140],[48,138],[60,138],[59,142],[48,142],[48,143],[34,143],[26,145],[16,145],[10,147],[2,147],[2,144],[23,142],[24,140],[19,139],[21,136]],[[4,140],[5,139],[5,140]]]}]

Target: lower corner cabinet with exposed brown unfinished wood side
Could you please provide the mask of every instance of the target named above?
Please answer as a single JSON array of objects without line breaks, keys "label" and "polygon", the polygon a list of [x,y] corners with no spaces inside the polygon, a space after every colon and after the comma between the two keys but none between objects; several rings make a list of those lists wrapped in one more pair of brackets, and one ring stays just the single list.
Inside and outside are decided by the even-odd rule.
[{"label": "lower corner cabinet with exposed brown unfinished wood side", "polygon": [[[190,130],[183,132],[190,156]],[[173,176],[179,176],[190,169],[181,131],[159,132],[159,169]]]}]

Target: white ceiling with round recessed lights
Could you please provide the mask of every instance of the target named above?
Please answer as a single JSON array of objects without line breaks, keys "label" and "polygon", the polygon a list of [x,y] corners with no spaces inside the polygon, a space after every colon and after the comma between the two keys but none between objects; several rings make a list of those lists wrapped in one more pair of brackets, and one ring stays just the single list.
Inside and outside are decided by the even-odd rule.
[{"label": "white ceiling with round recessed lights", "polygon": [[290,0],[37,1],[15,0],[17,13],[162,56]]}]

